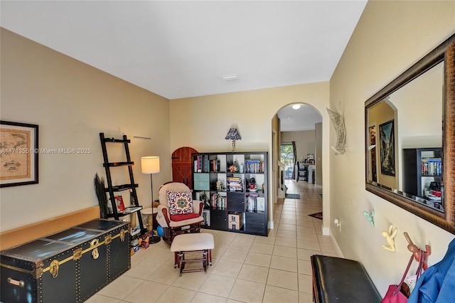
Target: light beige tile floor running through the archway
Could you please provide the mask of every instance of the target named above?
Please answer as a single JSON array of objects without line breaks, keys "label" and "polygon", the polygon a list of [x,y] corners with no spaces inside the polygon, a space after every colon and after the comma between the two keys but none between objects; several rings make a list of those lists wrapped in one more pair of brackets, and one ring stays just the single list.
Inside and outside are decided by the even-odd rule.
[{"label": "light beige tile floor running through the archway", "polygon": [[274,205],[268,237],[202,231],[215,238],[207,274],[179,277],[169,245],[160,241],[133,255],[132,268],[87,302],[312,302],[310,256],[336,256],[336,250],[321,233],[322,221],[307,216],[321,211],[321,189],[304,181],[285,184],[301,198]]}]

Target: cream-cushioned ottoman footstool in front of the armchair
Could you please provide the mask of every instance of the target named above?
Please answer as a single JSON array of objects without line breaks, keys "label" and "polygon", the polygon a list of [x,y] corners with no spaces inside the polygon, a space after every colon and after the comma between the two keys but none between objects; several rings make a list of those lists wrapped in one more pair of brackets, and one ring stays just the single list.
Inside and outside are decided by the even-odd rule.
[{"label": "cream-cushioned ottoman footstool in front of the armchair", "polygon": [[[207,272],[207,265],[212,265],[212,250],[215,241],[211,233],[185,233],[173,238],[171,252],[174,253],[174,268],[180,268],[180,276],[183,272]],[[202,254],[202,257],[186,259],[185,254]],[[185,270],[186,262],[202,262],[202,268]]]}]

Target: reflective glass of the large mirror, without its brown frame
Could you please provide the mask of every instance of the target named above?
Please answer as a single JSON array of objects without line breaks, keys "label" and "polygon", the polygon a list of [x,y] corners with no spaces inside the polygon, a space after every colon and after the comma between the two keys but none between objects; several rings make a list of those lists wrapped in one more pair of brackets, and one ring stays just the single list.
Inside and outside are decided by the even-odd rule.
[{"label": "reflective glass of the large mirror, without its brown frame", "polygon": [[368,182],[444,212],[439,63],[368,109]]}]

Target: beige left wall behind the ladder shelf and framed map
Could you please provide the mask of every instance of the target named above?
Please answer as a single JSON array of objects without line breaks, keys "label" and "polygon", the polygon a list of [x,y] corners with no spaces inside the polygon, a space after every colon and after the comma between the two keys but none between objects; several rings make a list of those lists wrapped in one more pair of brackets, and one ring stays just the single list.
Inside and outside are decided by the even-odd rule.
[{"label": "beige left wall behind the ladder shelf and framed map", "polygon": [[[161,156],[154,183],[171,179],[168,117],[165,98],[2,28],[1,119],[38,124],[42,149],[92,152],[39,154],[39,184],[1,188],[0,230],[97,206],[93,178],[97,172],[105,176],[100,132],[132,139],[139,202],[149,205],[150,177],[138,164],[141,156]],[[113,179],[126,177],[117,176]],[[154,189],[157,196],[158,186]]]}]

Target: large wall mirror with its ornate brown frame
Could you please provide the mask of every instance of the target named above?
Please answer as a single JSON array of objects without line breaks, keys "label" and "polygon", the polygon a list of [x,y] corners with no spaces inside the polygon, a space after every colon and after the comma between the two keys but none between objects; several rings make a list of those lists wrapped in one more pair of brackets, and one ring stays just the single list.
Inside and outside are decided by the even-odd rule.
[{"label": "large wall mirror with its ornate brown frame", "polygon": [[455,233],[455,35],[365,102],[365,188]]}]

